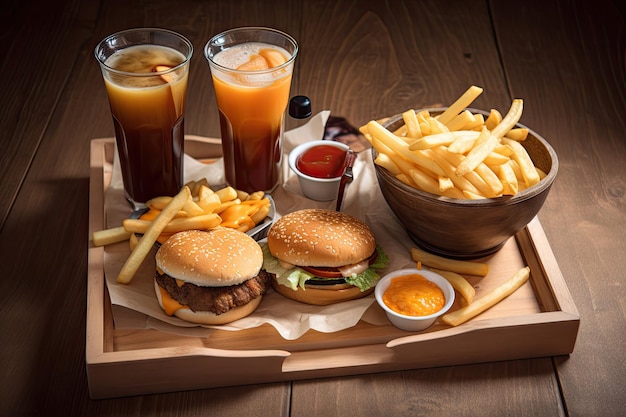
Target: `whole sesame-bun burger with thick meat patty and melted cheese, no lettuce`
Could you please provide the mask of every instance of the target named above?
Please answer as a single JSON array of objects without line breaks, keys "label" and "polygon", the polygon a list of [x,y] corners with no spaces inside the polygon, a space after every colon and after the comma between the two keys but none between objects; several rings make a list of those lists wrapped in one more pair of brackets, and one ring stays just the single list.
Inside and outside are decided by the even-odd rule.
[{"label": "whole sesame-bun burger with thick meat patty and melted cheese, no lettuce", "polygon": [[226,324],[259,306],[270,285],[263,253],[245,233],[222,227],[172,235],[156,253],[154,289],[169,316]]}]

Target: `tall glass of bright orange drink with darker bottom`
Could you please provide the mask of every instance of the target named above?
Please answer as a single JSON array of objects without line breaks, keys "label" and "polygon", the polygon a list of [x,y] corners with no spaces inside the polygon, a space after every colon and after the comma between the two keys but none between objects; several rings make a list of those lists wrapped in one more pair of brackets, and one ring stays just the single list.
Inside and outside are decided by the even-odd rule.
[{"label": "tall glass of bright orange drink with darker bottom", "polygon": [[280,178],[281,137],[298,44],[286,33],[243,27],[204,47],[220,116],[226,181],[271,192]]}]

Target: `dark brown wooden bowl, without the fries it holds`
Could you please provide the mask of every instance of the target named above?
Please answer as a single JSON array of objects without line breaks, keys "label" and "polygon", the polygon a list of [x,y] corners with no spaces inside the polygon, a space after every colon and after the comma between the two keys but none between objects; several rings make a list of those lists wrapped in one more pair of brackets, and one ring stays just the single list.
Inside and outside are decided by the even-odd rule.
[{"label": "dark brown wooden bowl, without the fries it holds", "polygon": [[[426,109],[439,114],[445,108]],[[470,109],[473,113],[488,114]],[[384,126],[394,131],[404,124],[402,115]],[[526,127],[518,124],[516,127]],[[490,255],[522,230],[537,215],[558,171],[558,158],[550,144],[529,129],[521,142],[536,167],[547,175],[539,183],[514,196],[483,200],[442,197],[417,190],[375,164],[376,177],[387,204],[421,248],[446,257],[475,259]],[[376,158],[376,150],[372,149]]]}]

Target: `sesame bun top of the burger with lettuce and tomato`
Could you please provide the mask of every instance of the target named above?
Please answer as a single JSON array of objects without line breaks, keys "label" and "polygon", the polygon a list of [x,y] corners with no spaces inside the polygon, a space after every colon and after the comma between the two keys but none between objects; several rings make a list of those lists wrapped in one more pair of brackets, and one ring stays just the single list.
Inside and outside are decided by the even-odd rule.
[{"label": "sesame bun top of the burger with lettuce and tomato", "polygon": [[267,234],[272,255],[297,266],[340,267],[368,258],[376,249],[374,234],[346,213],[305,209],[277,220]]}]

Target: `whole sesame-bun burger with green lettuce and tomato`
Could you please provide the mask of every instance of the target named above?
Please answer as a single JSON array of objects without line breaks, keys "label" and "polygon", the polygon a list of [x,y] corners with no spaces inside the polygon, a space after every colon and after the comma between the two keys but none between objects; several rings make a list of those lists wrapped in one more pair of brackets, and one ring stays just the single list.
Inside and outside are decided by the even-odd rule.
[{"label": "whole sesame-bun burger with green lettuce and tomato", "polygon": [[263,246],[263,269],[285,297],[329,305],[370,294],[388,258],[361,220],[346,213],[305,209],[277,220]]}]

